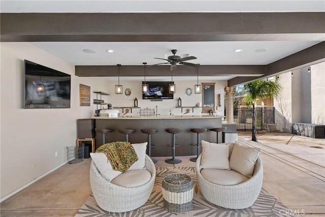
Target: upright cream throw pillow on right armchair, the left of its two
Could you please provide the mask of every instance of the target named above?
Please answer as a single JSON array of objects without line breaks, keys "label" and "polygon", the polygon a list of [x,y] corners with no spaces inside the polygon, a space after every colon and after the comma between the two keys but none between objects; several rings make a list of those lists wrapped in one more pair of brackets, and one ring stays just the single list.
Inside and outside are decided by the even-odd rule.
[{"label": "upright cream throw pillow on right armchair, the left of its two", "polygon": [[203,169],[230,170],[229,146],[202,140],[201,165]]}]

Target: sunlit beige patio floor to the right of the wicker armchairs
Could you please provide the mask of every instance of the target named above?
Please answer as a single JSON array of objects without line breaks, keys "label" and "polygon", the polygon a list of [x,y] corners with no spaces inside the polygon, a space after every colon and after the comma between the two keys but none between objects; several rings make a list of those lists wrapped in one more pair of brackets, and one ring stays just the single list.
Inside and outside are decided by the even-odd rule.
[{"label": "sunlit beige patio floor to the right of the wicker armchairs", "polygon": [[238,135],[240,143],[261,148],[265,190],[297,216],[325,216],[325,139],[262,131],[253,142],[251,132]]}]

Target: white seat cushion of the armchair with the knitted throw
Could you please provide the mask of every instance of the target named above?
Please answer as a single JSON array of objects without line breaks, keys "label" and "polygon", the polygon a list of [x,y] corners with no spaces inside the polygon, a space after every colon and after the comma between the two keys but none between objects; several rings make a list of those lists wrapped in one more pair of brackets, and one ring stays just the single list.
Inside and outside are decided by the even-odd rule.
[{"label": "white seat cushion of the armchair with the knitted throw", "polygon": [[111,180],[111,183],[127,188],[139,187],[140,185],[147,183],[150,178],[151,173],[146,169],[126,170]]}]

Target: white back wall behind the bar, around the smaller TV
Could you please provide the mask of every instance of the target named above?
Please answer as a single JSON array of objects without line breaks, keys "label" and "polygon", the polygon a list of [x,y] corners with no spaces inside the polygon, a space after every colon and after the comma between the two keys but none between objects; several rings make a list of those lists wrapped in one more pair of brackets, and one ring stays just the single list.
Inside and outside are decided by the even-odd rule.
[{"label": "white back wall behind the bar, around the smaller TV", "polygon": [[[167,80],[166,80],[167,81]],[[142,99],[142,86],[141,81],[123,81],[123,78],[120,79],[120,84],[123,85],[123,89],[129,88],[131,89],[131,96],[126,97],[124,94],[114,94],[115,84],[117,82],[109,81],[108,92],[111,96],[106,97],[105,102],[111,103],[113,107],[127,107],[127,106],[134,106],[134,99],[138,99],[138,106],[143,108],[151,108],[155,109],[155,106],[158,107],[158,114],[160,115],[169,115],[170,109],[173,108],[174,115],[181,115],[184,114],[181,112],[180,108],[177,107],[178,98],[182,99],[182,106],[196,106],[197,103],[202,103],[202,94],[194,94],[194,84],[197,84],[196,81],[174,81],[176,85],[176,92],[174,94],[173,100],[163,100],[163,101],[150,101],[150,100],[143,100]],[[211,81],[199,81],[202,82],[211,82]],[[213,81],[214,82],[214,81]],[[215,81],[215,104],[217,105],[217,95],[221,94],[221,105],[222,107],[218,107],[217,113],[219,115],[223,115],[223,87],[227,85],[227,81]],[[187,96],[185,94],[186,88],[190,87],[192,89],[192,95]],[[185,108],[186,109],[186,108]],[[122,115],[122,109],[120,110],[120,115]],[[140,112],[139,109],[133,109],[132,114],[126,115],[138,115]],[[192,111],[187,115],[197,115],[202,112],[202,108],[194,108],[194,113]]]}]

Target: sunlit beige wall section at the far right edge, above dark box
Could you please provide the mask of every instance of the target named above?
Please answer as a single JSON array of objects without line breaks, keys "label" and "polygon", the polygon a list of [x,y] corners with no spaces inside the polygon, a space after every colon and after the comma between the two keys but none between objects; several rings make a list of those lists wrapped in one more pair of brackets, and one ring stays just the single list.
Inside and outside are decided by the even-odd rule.
[{"label": "sunlit beige wall section at the far right edge, above dark box", "polygon": [[311,66],[311,122],[325,125],[325,62]]}]

